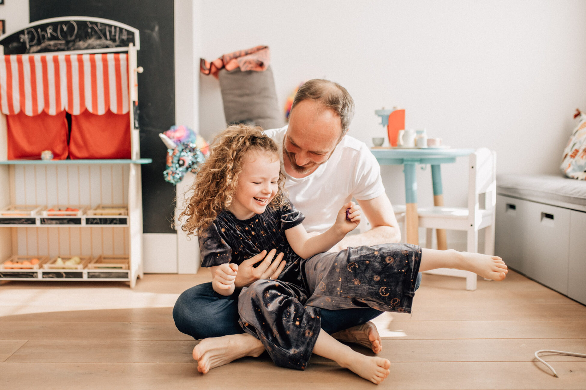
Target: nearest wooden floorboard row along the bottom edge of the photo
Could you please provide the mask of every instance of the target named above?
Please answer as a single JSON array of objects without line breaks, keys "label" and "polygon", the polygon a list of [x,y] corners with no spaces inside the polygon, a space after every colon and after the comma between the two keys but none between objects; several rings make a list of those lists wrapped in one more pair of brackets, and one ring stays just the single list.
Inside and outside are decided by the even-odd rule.
[{"label": "nearest wooden floorboard row along the bottom edge of the photo", "polygon": [[[271,363],[233,363],[206,375],[190,363],[2,363],[10,389],[584,389],[585,362],[557,362],[554,378],[534,363],[395,363],[376,386],[333,363],[297,372]],[[32,374],[34,372],[34,375]]]}]

